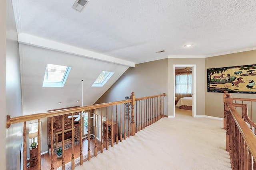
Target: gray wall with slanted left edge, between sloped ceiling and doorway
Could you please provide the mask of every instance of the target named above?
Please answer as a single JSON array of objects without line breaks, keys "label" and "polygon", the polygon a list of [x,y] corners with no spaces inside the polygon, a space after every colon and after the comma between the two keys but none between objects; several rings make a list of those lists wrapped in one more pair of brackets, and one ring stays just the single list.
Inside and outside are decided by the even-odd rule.
[{"label": "gray wall with slanted left edge, between sloped ceiling and doorway", "polygon": [[[162,59],[128,68],[96,104],[125,100],[131,92],[136,98],[167,93],[167,63],[168,59]],[[167,97],[164,97],[164,114],[167,115]]]}]

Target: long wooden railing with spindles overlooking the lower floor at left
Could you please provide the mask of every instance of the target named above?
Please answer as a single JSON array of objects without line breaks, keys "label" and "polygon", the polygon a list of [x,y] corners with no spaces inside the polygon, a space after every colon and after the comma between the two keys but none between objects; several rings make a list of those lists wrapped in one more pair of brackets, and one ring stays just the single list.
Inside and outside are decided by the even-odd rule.
[{"label": "long wooden railing with spindles overlooking the lower floor at left", "polygon": [[[94,144],[94,156],[97,156],[98,152],[102,153],[104,151],[104,146],[106,150],[108,150],[109,145],[111,147],[114,146],[114,141],[118,144],[118,141],[122,142],[123,139],[126,137],[130,137],[130,135],[134,136],[136,132],[144,129],[148,125],[151,125],[155,121],[164,117],[164,94],[156,95],[156,96],[148,96],[143,98],[135,98],[134,92],[130,96],[129,100],[122,100],[118,102],[110,102],[104,104],[96,104],[92,106],[84,106],[84,107],[75,107],[71,109],[63,109],[63,110],[56,110],[50,111],[46,113],[37,113],[32,115],[24,115],[19,117],[11,117],[10,115],[7,116],[6,128],[9,128],[12,124],[23,122],[23,137],[24,137],[24,167],[23,169],[26,170],[26,121],[31,121],[38,119],[38,141],[40,141],[40,119],[50,117],[50,135],[51,135],[51,144],[54,143],[54,123],[53,118],[56,116],[62,117],[62,170],[65,170],[65,144],[64,144],[64,117],[67,115],[71,115],[71,131],[72,131],[72,156],[71,156],[71,166],[72,170],[74,170],[75,163],[74,163],[74,115],[78,115],[80,113],[80,165],[83,164],[83,141],[82,141],[82,112],[88,112],[88,117],[90,117],[90,111],[94,110],[94,115],[100,116],[101,120],[101,129],[100,131],[103,132],[103,122],[102,117],[106,117],[106,139],[104,140],[103,134],[100,133],[100,151],[97,150],[97,127],[96,127],[96,119],[94,119],[94,136],[95,136],[95,144]],[[135,111],[134,111],[135,110]],[[115,125],[116,129],[113,129]],[[88,118],[88,150],[87,150],[87,159],[90,160],[91,158],[91,149],[90,149],[90,119]],[[111,127],[111,133],[108,134],[108,126]],[[60,129],[59,128],[59,129]],[[56,129],[56,128],[55,128]],[[113,131],[116,133],[114,134]],[[111,144],[109,144],[109,139]],[[38,142],[38,169],[41,169],[41,143]],[[54,169],[54,148],[53,145],[50,145],[51,149],[51,169]]]}]

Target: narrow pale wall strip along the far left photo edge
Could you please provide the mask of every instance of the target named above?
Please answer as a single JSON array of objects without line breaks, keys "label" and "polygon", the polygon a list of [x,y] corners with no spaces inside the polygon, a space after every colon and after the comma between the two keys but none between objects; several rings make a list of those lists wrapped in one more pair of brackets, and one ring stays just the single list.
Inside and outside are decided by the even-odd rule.
[{"label": "narrow pale wall strip along the far left photo edge", "polygon": [[6,169],[6,92],[5,92],[5,72],[6,72],[6,0],[0,0],[0,165]]}]

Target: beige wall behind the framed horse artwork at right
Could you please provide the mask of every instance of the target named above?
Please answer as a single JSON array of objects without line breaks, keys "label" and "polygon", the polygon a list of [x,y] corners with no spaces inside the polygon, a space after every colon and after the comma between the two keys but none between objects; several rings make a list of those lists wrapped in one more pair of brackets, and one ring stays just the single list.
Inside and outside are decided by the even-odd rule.
[{"label": "beige wall behind the framed horse artwork at right", "polygon": [[[234,53],[228,55],[221,55],[216,57],[206,58],[207,68],[219,68],[228,66],[241,66],[248,64],[256,64],[256,50],[245,51],[241,53]],[[207,80],[205,81],[207,83]],[[223,118],[223,94],[207,92],[207,86],[205,86],[205,113],[209,116],[222,117]],[[232,93],[235,98],[256,98],[255,94],[235,94]]]}]

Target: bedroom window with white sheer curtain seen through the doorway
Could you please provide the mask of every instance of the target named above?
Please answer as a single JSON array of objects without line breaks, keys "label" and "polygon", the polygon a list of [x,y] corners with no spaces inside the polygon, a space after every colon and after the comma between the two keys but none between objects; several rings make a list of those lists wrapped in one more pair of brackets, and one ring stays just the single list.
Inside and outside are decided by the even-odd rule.
[{"label": "bedroom window with white sheer curtain seen through the doorway", "polygon": [[192,73],[175,74],[175,97],[192,96]]}]

